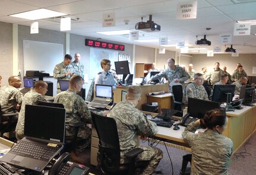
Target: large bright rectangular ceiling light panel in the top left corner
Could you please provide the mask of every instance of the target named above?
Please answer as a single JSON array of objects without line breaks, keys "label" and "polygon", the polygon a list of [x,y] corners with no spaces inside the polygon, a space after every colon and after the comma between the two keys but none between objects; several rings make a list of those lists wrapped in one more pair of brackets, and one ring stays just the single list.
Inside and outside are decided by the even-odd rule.
[{"label": "large bright rectangular ceiling light panel in the top left corner", "polygon": [[35,9],[35,10],[31,10],[31,11],[21,12],[21,13],[9,15],[9,16],[17,17],[17,18],[24,18],[27,20],[39,20],[39,19],[43,19],[43,18],[52,18],[52,17],[59,17],[59,16],[64,16],[64,15],[67,15],[67,14],[52,11],[50,9],[41,8],[41,9]]}]

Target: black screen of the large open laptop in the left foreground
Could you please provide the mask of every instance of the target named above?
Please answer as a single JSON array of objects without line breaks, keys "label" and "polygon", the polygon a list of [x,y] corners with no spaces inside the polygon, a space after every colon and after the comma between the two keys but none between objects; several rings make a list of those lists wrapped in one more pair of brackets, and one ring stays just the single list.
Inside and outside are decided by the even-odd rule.
[{"label": "black screen of the large open laptop in the left foreground", "polygon": [[65,118],[64,108],[26,104],[24,136],[64,142]]}]

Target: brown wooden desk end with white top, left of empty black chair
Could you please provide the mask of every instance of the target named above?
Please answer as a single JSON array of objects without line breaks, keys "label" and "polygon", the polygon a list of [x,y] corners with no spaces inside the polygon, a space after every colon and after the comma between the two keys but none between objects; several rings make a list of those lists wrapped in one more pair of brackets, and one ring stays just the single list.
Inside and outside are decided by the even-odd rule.
[{"label": "brown wooden desk end with white top, left of empty black chair", "polygon": [[157,96],[147,96],[147,103],[157,102],[158,113],[162,113],[161,109],[170,109],[172,106],[172,93],[160,94]]}]

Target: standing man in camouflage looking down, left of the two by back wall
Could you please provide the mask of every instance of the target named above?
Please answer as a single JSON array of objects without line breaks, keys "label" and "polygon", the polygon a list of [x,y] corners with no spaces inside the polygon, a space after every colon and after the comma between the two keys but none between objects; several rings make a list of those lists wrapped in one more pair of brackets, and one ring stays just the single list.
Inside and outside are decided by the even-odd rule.
[{"label": "standing man in camouflage looking down, left of the two by back wall", "polygon": [[57,79],[57,93],[61,92],[59,87],[59,79],[70,79],[75,74],[75,70],[72,65],[72,56],[66,54],[64,61],[55,66],[53,70],[53,77]]}]

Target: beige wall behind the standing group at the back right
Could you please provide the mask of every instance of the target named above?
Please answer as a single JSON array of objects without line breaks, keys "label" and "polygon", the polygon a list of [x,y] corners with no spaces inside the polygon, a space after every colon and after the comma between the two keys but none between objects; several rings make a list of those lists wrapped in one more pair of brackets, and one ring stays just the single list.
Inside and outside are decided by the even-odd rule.
[{"label": "beige wall behind the standing group at the back right", "polygon": [[236,64],[240,62],[248,76],[256,76],[256,74],[252,74],[252,66],[256,66],[256,54],[239,54],[238,57],[232,57],[230,53],[214,54],[213,57],[207,57],[206,54],[195,54],[191,59],[191,63],[194,65],[196,72],[201,72],[203,66],[206,66],[209,72],[214,67],[215,62],[220,63],[220,68],[226,66],[229,74],[233,73]]}]

